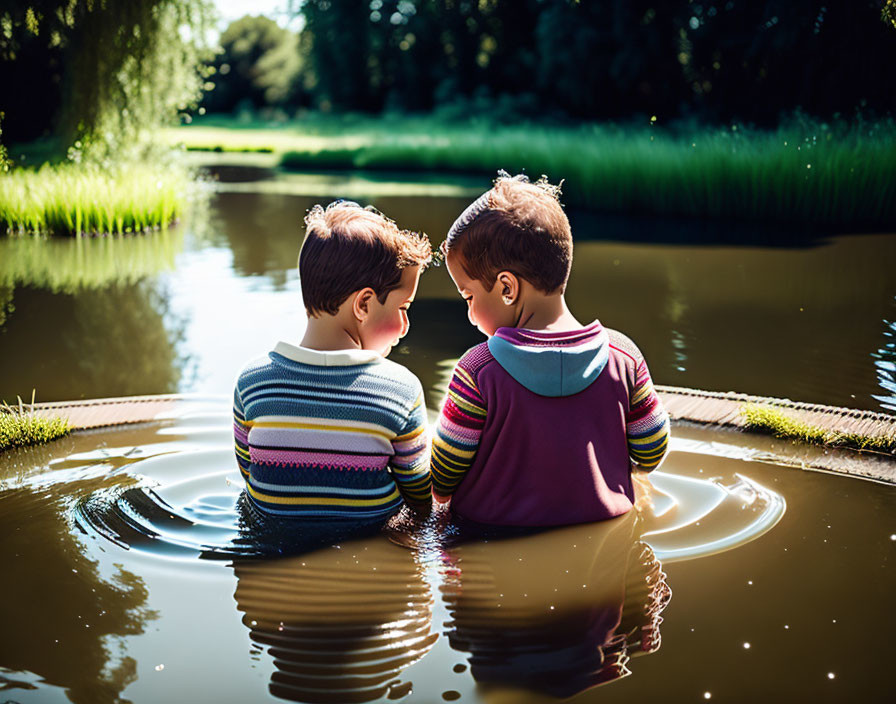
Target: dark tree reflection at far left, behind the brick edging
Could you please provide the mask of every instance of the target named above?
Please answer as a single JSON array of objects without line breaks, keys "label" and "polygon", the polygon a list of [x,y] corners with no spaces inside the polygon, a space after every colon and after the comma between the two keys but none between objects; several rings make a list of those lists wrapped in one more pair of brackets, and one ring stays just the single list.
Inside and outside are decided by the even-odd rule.
[{"label": "dark tree reflection at far left, behind the brick edging", "polygon": [[32,388],[38,401],[176,391],[190,360],[168,298],[150,281],[71,294],[16,288],[0,336],[0,400],[31,398]]}]

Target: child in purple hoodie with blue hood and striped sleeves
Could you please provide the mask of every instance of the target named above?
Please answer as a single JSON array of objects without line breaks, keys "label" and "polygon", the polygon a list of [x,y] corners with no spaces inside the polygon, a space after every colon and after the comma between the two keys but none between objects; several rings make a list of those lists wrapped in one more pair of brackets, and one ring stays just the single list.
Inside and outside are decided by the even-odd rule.
[{"label": "child in purple hoodie with blue hood and striped sleeves", "polygon": [[632,508],[669,419],[638,348],[564,299],[572,233],[559,189],[501,174],[442,244],[488,341],[458,362],[433,441],[438,501],[477,523],[551,526]]}]

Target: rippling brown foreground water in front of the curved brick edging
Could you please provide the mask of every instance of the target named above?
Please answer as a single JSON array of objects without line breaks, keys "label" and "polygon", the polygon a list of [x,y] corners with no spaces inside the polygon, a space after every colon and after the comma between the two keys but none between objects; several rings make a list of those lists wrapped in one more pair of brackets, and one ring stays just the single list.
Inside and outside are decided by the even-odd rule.
[{"label": "rippling brown foreground water in front of the curved brick edging", "polygon": [[638,517],[261,558],[229,420],[184,402],[0,457],[3,700],[890,699],[892,487],[682,428]]}]

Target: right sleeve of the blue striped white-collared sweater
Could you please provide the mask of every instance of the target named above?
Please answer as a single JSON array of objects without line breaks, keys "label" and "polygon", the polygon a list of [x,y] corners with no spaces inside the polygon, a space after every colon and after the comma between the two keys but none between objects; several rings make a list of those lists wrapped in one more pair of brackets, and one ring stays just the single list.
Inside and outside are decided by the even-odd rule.
[{"label": "right sleeve of the blue striped white-collared sweater", "polygon": [[392,477],[398,491],[413,508],[428,511],[432,504],[429,478],[429,433],[426,429],[426,404],[421,389],[411,408],[408,422],[392,439]]}]

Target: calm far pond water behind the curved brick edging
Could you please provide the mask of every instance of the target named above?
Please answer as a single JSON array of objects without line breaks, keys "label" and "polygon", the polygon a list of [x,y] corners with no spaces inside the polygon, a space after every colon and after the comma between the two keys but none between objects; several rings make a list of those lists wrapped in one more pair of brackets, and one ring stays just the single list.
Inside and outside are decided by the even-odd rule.
[{"label": "calm far pond water behind the curved brick edging", "polygon": [[[281,176],[223,184],[169,233],[0,241],[0,399],[228,394],[247,359],[301,337],[295,262],[313,203],[354,197],[438,242],[486,185]],[[573,312],[628,333],[658,383],[896,411],[892,234],[570,218]],[[439,389],[432,405],[439,365],[481,339],[434,269],[393,354]]]}]

